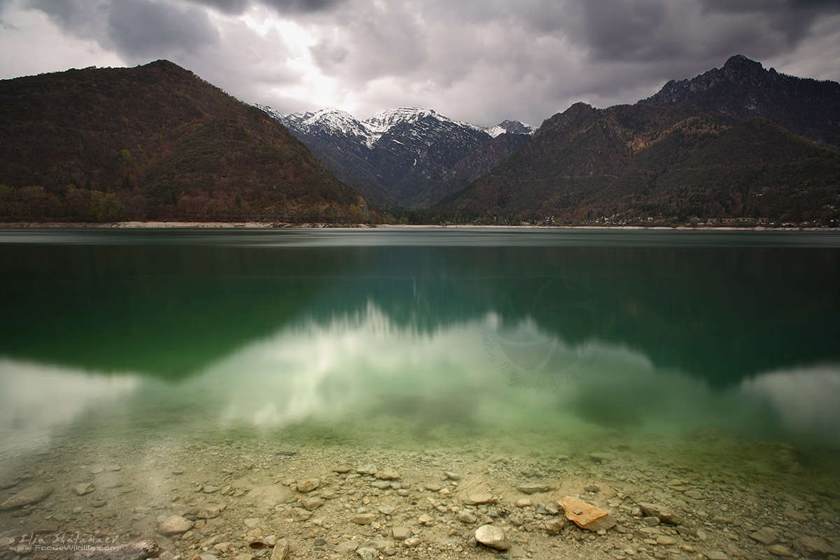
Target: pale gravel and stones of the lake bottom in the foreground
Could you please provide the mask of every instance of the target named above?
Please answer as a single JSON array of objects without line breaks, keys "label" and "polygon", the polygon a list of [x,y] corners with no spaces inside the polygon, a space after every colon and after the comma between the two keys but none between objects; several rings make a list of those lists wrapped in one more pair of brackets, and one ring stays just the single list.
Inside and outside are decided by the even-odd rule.
[{"label": "pale gravel and stones of the lake bottom in the foreground", "polygon": [[[567,454],[508,451],[514,439],[67,442],[6,456],[0,557],[123,558],[108,551],[138,542],[163,560],[840,556],[837,453],[711,431],[612,432]],[[566,496],[614,524],[576,526]],[[486,525],[503,549],[476,542]]]}]

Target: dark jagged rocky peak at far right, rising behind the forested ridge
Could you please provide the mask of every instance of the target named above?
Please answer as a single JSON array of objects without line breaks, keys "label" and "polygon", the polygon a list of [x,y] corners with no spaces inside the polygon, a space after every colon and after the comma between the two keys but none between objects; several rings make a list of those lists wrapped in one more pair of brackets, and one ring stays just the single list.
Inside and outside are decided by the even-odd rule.
[{"label": "dark jagged rocky peak at far right, rising behind the forested ridge", "polygon": [[840,84],[764,70],[743,55],[690,80],[669,81],[640,103],[698,105],[739,121],[764,117],[806,138],[840,145]]}]

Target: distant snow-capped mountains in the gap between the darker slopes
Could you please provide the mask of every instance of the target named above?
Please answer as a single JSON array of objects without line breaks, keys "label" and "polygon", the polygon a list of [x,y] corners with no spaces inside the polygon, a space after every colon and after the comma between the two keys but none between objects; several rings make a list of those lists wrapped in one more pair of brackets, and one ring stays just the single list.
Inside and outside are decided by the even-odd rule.
[{"label": "distant snow-capped mountains in the gap between the darker slopes", "polygon": [[[258,105],[286,125],[341,181],[369,201],[386,208],[415,207],[428,201],[437,188],[446,196],[459,191],[517,149],[534,132],[518,121],[506,120],[491,128],[444,117],[432,109],[401,107],[359,120],[338,109],[281,115]],[[495,150],[489,144],[498,137]],[[501,154],[483,162],[464,177],[453,169],[464,167],[476,152]],[[475,161],[477,165],[480,162]],[[438,186],[443,183],[444,186]],[[437,199],[436,199],[437,200]]]}]

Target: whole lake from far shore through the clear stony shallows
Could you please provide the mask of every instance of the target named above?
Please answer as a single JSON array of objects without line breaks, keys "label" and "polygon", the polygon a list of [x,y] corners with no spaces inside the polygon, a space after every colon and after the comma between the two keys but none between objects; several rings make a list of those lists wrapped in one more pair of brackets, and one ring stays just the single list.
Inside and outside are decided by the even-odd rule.
[{"label": "whole lake from far shore through the clear stony shallows", "polygon": [[[538,501],[567,493],[631,528],[639,496],[698,526],[715,526],[712,488],[729,517],[790,506],[801,519],[764,522],[794,524],[789,548],[840,527],[837,233],[2,230],[0,283],[0,500],[52,488],[0,512],[3,536],[37,521],[181,553],[213,523],[239,535],[256,519],[303,527],[299,550],[327,557],[341,513],[373,508],[340,498],[375,480],[356,472],[369,463],[402,473],[371,491],[414,500],[405,523],[417,496],[444,500],[417,538],[456,557],[483,550],[449,523],[466,481],[508,510],[517,484],[547,484],[522,524],[470,505],[535,557],[555,546]],[[332,481],[339,498],[315,510],[332,527],[297,519],[301,477]],[[197,525],[170,541],[173,512]],[[376,516],[349,527],[401,521]],[[719,548],[764,550],[724,521],[743,542]]]}]

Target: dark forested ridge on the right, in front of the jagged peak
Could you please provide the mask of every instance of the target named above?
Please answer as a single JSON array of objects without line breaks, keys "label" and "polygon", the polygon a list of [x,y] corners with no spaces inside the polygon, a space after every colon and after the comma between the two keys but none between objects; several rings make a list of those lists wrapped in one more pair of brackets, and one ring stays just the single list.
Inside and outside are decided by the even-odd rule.
[{"label": "dark forested ridge on the right, in front of the jagged peak", "polygon": [[840,149],[693,105],[577,103],[431,209],[440,219],[836,225]]}]

